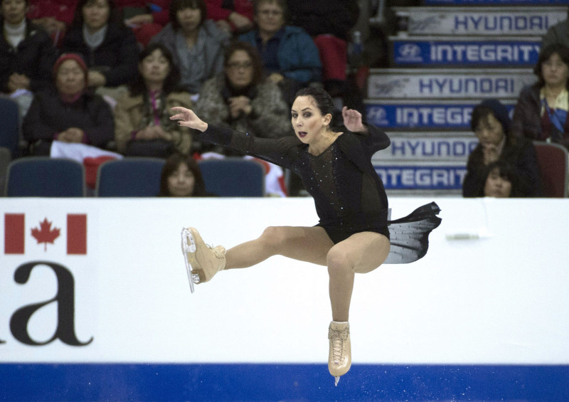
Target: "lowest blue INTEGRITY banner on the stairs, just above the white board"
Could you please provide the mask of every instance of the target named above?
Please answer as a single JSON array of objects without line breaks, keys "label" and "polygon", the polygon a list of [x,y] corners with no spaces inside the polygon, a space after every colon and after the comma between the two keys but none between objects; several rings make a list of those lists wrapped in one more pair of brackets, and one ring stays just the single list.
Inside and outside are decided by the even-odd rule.
[{"label": "lowest blue INTEGRITY banner on the stairs, just above the white board", "polygon": [[459,190],[467,174],[466,163],[373,166],[386,190]]}]

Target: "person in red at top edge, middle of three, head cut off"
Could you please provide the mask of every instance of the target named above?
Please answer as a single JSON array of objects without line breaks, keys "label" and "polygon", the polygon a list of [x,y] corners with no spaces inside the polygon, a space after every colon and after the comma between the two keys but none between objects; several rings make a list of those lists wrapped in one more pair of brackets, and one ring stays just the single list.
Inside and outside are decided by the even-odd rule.
[{"label": "person in red at top edge, middle of three, head cut off", "polygon": [[170,0],[115,0],[115,6],[143,48],[169,21]]}]

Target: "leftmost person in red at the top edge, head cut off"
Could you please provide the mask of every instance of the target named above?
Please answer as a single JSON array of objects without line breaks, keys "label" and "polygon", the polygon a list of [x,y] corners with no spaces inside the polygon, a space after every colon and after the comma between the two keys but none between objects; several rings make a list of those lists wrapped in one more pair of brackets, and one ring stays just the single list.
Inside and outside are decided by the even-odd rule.
[{"label": "leftmost person in red at the top edge, head cut off", "polygon": [[60,46],[63,36],[73,22],[78,0],[30,0],[28,18],[51,36],[53,44]]}]

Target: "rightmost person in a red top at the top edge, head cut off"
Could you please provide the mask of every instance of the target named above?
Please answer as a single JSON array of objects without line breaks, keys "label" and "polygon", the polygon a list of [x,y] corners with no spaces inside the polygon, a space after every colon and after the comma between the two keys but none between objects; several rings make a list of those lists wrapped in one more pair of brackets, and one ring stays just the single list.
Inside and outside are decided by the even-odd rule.
[{"label": "rightmost person in a red top at the top edge, head cut off", "polygon": [[208,17],[231,36],[253,28],[252,0],[206,0]]}]

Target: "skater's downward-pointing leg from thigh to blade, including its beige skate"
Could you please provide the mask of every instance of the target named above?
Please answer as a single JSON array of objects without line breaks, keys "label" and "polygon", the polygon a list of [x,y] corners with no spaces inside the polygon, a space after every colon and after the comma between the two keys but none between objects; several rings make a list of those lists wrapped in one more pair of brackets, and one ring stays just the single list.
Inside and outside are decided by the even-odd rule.
[{"label": "skater's downward-pointing leg from thigh to blade, including its beige skate", "polygon": [[336,377],[351,366],[349,310],[356,273],[378,268],[389,254],[389,239],[372,232],[356,233],[332,247],[326,256],[330,277],[329,292],[332,319],[328,329],[328,369]]}]

